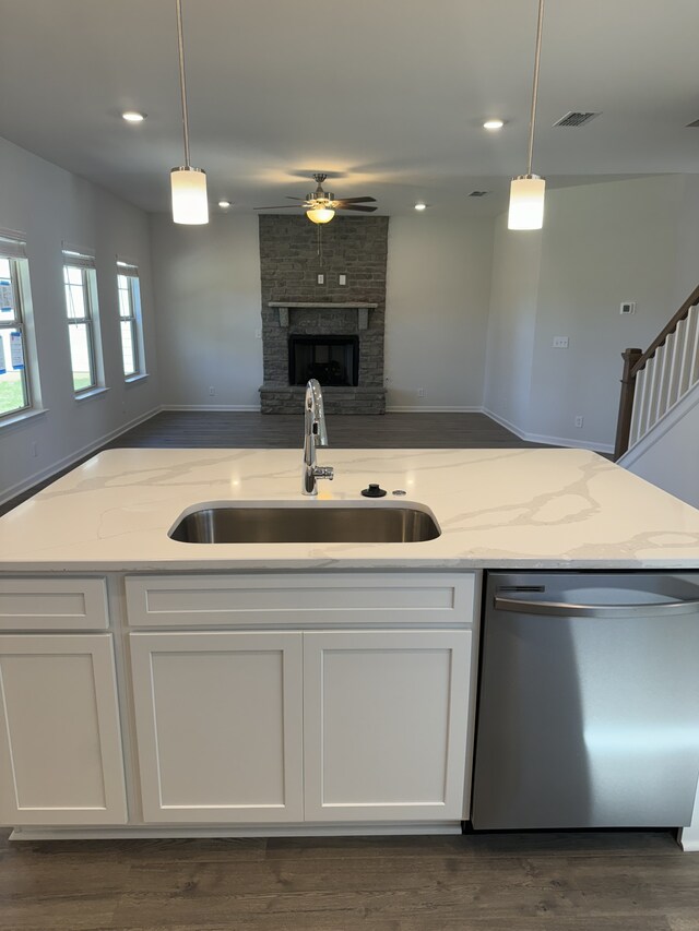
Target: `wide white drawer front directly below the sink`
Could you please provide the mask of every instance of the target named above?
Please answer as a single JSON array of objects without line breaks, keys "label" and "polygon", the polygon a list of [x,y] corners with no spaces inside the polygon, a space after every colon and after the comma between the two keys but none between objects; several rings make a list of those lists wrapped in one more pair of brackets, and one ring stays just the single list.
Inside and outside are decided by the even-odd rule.
[{"label": "wide white drawer front directly below the sink", "polygon": [[132,575],[133,626],[441,625],[474,620],[475,573]]}]

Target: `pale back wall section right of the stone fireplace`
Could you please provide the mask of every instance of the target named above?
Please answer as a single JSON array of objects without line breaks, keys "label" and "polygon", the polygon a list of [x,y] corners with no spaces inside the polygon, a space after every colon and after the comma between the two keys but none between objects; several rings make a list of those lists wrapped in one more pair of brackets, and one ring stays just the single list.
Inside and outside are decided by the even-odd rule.
[{"label": "pale back wall section right of the stone fireplace", "polygon": [[391,217],[389,409],[481,408],[491,261],[490,219]]}]

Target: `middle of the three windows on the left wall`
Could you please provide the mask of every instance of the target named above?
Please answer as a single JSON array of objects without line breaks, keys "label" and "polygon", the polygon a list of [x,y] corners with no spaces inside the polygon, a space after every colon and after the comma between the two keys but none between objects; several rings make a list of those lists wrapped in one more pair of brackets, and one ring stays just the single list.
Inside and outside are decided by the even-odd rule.
[{"label": "middle of the three windows on the left wall", "polygon": [[94,256],[63,249],[63,286],[76,395],[99,387],[102,382],[96,284]]}]

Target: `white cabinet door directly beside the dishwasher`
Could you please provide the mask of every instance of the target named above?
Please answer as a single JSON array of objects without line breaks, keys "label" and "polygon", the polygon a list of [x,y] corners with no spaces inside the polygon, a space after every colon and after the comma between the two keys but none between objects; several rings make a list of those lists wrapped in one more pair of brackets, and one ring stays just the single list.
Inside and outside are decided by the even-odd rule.
[{"label": "white cabinet door directly beside the dishwasher", "polygon": [[470,631],[304,634],[307,821],[463,816]]}]

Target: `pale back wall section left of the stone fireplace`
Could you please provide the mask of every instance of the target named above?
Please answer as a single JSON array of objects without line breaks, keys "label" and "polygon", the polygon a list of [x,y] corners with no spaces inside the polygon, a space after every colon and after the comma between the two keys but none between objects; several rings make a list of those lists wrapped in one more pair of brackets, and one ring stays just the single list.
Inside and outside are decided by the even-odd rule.
[{"label": "pale back wall section left of the stone fireplace", "polygon": [[163,403],[258,410],[257,216],[212,216],[208,226],[187,227],[158,214],[151,217],[151,236]]}]

